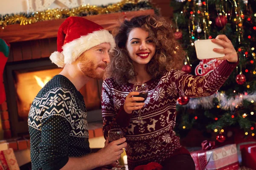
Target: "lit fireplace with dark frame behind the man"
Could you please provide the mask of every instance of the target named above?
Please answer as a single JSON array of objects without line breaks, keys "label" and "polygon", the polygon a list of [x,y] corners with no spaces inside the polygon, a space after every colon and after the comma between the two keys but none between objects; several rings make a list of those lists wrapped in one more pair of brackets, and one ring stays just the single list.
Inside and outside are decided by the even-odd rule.
[{"label": "lit fireplace with dark frame behind the man", "polygon": [[[33,99],[41,88],[61,70],[62,68],[57,68],[49,58],[6,64],[4,84],[12,137],[28,134],[27,119]],[[101,80],[91,79],[80,90],[84,96],[89,123],[102,121],[101,88]]]}]

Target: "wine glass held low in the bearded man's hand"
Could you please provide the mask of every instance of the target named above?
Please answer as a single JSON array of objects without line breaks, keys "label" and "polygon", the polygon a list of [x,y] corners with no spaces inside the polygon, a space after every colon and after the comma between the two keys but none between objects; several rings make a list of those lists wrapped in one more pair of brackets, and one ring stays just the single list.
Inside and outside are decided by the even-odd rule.
[{"label": "wine glass held low in the bearded man's hand", "polygon": [[[108,130],[108,142],[113,142],[123,137],[121,129]],[[112,170],[125,170],[125,166],[120,165],[119,161],[116,161],[116,167],[112,167]]]}]

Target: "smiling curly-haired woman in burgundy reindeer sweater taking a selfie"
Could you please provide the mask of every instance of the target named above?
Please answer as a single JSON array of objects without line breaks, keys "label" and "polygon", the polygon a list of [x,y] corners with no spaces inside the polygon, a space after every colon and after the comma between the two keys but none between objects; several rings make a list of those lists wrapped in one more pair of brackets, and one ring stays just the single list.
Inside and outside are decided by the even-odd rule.
[{"label": "smiling curly-haired woman in burgundy reindeer sweater taking a selfie", "polygon": [[[224,49],[214,49],[224,60],[205,77],[179,71],[184,51],[175,41],[170,26],[162,17],[139,16],[125,20],[115,34],[116,51],[107,68],[102,87],[104,135],[121,128],[127,139],[129,170],[138,165],[158,162],[164,169],[193,170],[194,161],[180,146],[175,127],[175,107],[180,96],[201,97],[214,94],[238,64],[238,56],[225,35],[212,41]],[[145,103],[134,83],[148,84]],[[144,124],[132,121],[141,109]]]}]

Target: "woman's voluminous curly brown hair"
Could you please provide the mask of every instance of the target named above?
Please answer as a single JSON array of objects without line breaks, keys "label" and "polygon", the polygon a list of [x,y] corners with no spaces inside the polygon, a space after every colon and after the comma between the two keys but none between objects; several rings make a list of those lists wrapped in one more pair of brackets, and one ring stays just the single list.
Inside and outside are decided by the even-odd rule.
[{"label": "woman's voluminous curly brown hair", "polygon": [[105,77],[112,77],[118,84],[125,84],[137,75],[126,49],[129,33],[134,28],[142,28],[148,31],[149,36],[156,45],[154,57],[146,67],[146,71],[153,79],[163,75],[166,71],[170,71],[172,68],[179,70],[182,67],[185,52],[175,40],[171,23],[167,22],[163,17],[142,15],[131,20],[125,20],[113,32],[116,48],[111,54],[111,62],[107,67]]}]

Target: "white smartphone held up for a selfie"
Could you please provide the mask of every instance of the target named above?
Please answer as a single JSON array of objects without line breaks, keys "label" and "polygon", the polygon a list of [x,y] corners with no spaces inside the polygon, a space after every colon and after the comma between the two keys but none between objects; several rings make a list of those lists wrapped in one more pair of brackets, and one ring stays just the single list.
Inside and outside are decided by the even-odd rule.
[{"label": "white smartphone held up for a selfie", "polygon": [[210,39],[195,41],[195,52],[198,59],[211,59],[225,56],[225,54],[220,54],[213,51],[213,48],[223,49],[221,45],[213,43]]}]

